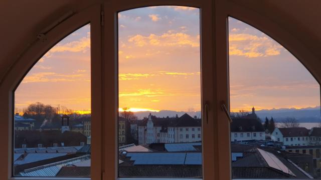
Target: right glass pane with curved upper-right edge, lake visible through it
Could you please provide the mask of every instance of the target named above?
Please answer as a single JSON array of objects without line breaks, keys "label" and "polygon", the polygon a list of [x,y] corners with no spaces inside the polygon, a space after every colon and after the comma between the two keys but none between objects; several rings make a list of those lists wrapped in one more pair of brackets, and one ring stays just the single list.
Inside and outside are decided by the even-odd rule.
[{"label": "right glass pane with curved upper-right edge, lake visible through it", "polygon": [[229,17],[233,178],[320,178],[320,86],[282,45]]}]

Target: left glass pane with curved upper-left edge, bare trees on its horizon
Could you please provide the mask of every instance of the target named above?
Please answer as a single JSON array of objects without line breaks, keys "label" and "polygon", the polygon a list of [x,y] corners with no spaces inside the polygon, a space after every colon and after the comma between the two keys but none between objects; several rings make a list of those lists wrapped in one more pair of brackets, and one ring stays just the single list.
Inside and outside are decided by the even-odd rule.
[{"label": "left glass pane with curved upper-left edge, bare trees on its horizon", "polygon": [[15,91],[14,176],[90,176],[90,25],[53,46]]}]

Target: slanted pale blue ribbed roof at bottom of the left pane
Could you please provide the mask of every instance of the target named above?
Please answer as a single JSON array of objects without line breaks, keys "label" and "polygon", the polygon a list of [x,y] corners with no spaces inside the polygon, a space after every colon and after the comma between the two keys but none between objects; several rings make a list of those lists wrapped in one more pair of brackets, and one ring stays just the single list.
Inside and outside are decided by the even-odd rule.
[{"label": "slanted pale blue ribbed roof at bottom of the left pane", "polygon": [[21,176],[56,176],[61,167],[66,165],[71,165],[77,162],[85,161],[90,159],[90,155],[83,155],[80,157],[75,157],[67,160],[62,160],[59,162],[54,162],[30,169],[26,169],[19,173]]}]

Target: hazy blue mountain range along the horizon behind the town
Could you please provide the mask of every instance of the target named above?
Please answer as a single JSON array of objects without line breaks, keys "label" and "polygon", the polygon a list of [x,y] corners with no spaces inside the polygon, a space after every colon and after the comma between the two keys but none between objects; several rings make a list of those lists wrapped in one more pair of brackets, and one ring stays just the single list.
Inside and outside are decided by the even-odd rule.
[{"label": "hazy blue mountain range along the horizon behind the town", "polygon": [[[265,117],[274,118],[274,121],[280,122],[283,121],[286,117],[294,117],[299,122],[320,122],[321,121],[321,109],[320,106],[316,107],[306,107],[306,108],[273,108],[273,109],[262,109],[255,111],[257,116],[260,117],[262,121],[265,120]],[[159,112],[152,111],[140,111],[134,112],[134,114],[138,117],[138,119],[142,119],[143,117],[147,117],[148,114],[151,113],[157,117],[166,117],[166,116],[178,116],[183,115],[184,113],[188,113],[192,117],[195,115],[200,118],[201,111],[174,111],[174,110],[161,110]]]}]

